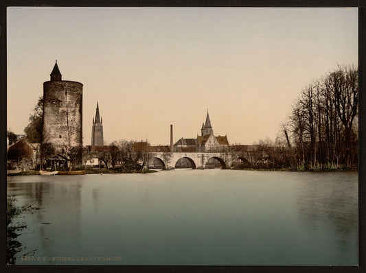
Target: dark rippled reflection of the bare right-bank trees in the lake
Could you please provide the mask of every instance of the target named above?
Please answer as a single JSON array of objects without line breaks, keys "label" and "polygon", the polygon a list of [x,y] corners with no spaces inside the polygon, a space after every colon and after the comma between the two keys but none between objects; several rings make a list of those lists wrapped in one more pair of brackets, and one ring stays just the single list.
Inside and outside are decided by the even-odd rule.
[{"label": "dark rippled reflection of the bare right-bank trees in the lake", "polygon": [[[326,228],[337,234],[336,240],[345,253],[358,240],[358,183],[354,174],[337,173],[335,179],[325,174],[311,174],[297,188],[298,216],[308,228]],[[355,246],[356,244],[356,246]]]}]

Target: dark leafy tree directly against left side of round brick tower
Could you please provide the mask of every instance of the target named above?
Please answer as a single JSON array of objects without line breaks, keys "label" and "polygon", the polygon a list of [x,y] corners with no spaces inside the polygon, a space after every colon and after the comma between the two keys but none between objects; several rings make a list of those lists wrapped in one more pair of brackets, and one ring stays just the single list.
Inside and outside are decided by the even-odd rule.
[{"label": "dark leafy tree directly against left side of round brick tower", "polygon": [[24,128],[28,141],[33,143],[42,142],[42,120],[43,120],[43,97],[38,98],[38,102],[30,115],[30,123]]}]

